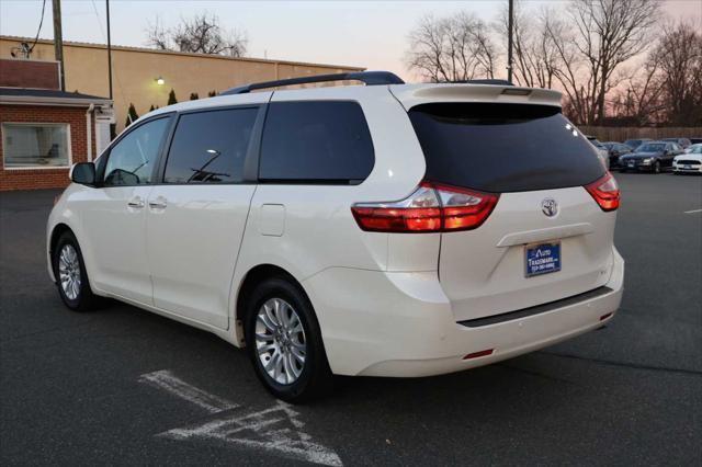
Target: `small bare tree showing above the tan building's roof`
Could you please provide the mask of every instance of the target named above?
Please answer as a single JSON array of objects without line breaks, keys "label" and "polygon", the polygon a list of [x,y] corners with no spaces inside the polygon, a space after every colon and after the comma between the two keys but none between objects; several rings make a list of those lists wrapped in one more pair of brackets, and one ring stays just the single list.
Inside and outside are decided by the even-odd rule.
[{"label": "small bare tree showing above the tan building's roof", "polygon": [[163,50],[242,57],[248,45],[245,32],[227,31],[217,15],[208,13],[199,13],[191,19],[181,18],[172,29],[165,29],[157,19],[155,24],[149,23],[146,32],[147,43]]}]

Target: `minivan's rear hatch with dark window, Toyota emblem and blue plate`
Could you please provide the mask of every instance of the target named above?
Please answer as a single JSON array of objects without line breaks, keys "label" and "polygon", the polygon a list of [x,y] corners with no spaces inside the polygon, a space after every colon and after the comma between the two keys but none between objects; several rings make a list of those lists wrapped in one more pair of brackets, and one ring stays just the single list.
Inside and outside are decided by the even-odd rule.
[{"label": "minivan's rear hatch with dark window, Toyota emblem and blue plate", "polygon": [[423,102],[409,116],[426,180],[500,196],[477,229],[442,234],[440,282],[457,321],[607,283],[615,213],[603,212],[584,187],[607,171],[558,106]]}]

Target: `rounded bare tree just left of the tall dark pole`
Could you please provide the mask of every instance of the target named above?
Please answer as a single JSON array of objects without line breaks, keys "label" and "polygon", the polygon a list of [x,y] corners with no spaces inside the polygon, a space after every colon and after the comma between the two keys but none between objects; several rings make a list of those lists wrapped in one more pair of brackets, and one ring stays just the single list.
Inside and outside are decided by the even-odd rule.
[{"label": "rounded bare tree just left of the tall dark pole", "polygon": [[424,16],[409,41],[407,66],[430,81],[495,77],[497,47],[487,24],[472,13]]}]

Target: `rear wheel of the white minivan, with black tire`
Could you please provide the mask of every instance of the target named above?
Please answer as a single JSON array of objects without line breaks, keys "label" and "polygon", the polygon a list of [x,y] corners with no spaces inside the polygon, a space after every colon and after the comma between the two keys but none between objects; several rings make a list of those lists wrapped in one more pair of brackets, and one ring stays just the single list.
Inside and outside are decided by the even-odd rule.
[{"label": "rear wheel of the white minivan, with black tire", "polygon": [[263,386],[276,398],[293,403],[329,394],[332,375],[321,331],[299,287],[286,277],[268,278],[256,287],[245,307],[246,346]]}]

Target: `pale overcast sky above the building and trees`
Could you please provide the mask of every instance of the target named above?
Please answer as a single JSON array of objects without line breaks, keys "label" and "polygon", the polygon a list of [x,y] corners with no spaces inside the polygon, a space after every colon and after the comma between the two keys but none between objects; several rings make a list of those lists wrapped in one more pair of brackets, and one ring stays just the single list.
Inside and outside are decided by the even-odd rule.
[{"label": "pale overcast sky above the building and trees", "polygon": [[[529,7],[564,0],[533,0]],[[473,11],[492,21],[507,0],[473,1],[127,1],[110,2],[112,43],[145,46],[156,19],[172,26],[194,12],[215,13],[228,27],[245,30],[251,57],[387,69],[411,78],[403,57],[407,35],[424,14]],[[64,39],[105,43],[104,0],[63,0]],[[668,0],[666,13],[702,24],[702,0]],[[36,35],[42,0],[0,0],[0,34]],[[52,1],[39,37],[52,38]]]}]

